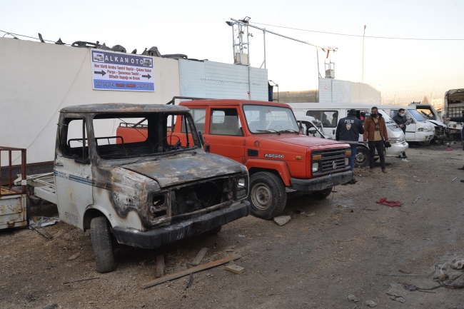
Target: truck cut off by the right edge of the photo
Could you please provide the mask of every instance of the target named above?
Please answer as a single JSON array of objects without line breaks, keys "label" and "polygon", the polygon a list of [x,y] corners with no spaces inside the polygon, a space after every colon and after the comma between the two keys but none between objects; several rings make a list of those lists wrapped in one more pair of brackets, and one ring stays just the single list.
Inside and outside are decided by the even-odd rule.
[{"label": "truck cut off by the right edge of the photo", "polygon": [[[443,118],[445,117],[462,117],[464,110],[464,88],[451,89],[445,92],[443,106]],[[448,134],[450,141],[461,140],[461,130],[463,123],[448,121]]]}]

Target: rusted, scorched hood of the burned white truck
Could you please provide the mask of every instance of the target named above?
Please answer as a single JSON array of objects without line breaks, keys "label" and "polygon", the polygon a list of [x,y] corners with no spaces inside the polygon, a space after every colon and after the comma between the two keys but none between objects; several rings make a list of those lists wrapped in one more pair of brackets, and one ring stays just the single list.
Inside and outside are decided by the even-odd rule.
[{"label": "rusted, scorched hood of the burned white truck", "polygon": [[156,161],[132,163],[121,167],[152,178],[161,188],[231,173],[246,173],[245,166],[213,153],[163,156]]}]

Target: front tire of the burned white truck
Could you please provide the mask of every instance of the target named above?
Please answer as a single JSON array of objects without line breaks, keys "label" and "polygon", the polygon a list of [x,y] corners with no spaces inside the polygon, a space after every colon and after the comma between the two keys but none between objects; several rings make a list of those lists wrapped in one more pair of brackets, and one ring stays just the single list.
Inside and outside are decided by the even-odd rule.
[{"label": "front tire of the burned white truck", "polygon": [[93,218],[90,223],[92,247],[94,248],[96,271],[109,273],[118,267],[114,257],[109,221],[105,217]]}]

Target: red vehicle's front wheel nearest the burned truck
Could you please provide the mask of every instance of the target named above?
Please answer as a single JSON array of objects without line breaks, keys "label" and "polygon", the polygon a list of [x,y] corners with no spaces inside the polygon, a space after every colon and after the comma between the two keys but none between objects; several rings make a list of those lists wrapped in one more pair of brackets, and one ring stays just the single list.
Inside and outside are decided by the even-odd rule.
[{"label": "red vehicle's front wheel nearest the burned truck", "polygon": [[268,172],[258,172],[250,177],[250,194],[253,216],[265,220],[282,213],[287,203],[287,193],[281,178]]}]

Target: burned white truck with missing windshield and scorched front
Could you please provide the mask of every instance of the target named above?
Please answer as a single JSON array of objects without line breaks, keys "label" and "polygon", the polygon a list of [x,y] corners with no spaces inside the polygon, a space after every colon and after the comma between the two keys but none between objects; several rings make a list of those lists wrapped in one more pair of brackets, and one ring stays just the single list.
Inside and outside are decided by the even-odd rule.
[{"label": "burned white truck with missing windshield and scorched front", "polygon": [[[178,117],[182,142],[171,135]],[[119,136],[126,128],[135,135]],[[96,270],[106,273],[117,266],[114,239],[157,248],[248,216],[246,167],[206,153],[201,140],[183,106],[69,106],[59,116],[53,183],[28,183],[62,221],[91,230]]]}]

